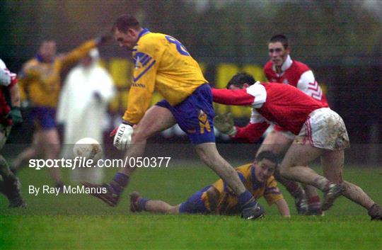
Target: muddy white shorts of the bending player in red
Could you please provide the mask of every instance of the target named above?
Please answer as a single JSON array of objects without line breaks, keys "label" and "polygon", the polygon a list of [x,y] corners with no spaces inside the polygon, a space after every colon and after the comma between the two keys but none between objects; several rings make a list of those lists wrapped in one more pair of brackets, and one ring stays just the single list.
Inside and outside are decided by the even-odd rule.
[{"label": "muddy white shorts of the bending player in red", "polygon": [[319,108],[310,113],[294,142],[329,150],[350,146],[344,121],[330,108]]}]

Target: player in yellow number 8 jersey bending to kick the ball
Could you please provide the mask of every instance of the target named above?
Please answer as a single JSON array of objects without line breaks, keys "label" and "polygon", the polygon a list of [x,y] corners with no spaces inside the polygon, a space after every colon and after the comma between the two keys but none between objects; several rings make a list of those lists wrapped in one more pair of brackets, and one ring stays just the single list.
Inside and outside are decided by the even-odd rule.
[{"label": "player in yellow number 8 jersey bending to kick the ball", "polygon": [[[151,135],[178,123],[202,161],[238,194],[243,218],[261,217],[263,209],[216,149],[212,92],[199,64],[185,46],[170,35],[141,28],[139,21],[130,15],[117,18],[112,33],[120,47],[132,51],[135,63],[124,121],[115,130],[115,147],[120,150],[129,147],[126,157],[141,157]],[[154,89],[164,100],[149,108]],[[134,169],[134,166],[123,168],[105,184],[107,193],[94,195],[108,205],[116,205]],[[98,187],[92,183],[83,184]]]}]

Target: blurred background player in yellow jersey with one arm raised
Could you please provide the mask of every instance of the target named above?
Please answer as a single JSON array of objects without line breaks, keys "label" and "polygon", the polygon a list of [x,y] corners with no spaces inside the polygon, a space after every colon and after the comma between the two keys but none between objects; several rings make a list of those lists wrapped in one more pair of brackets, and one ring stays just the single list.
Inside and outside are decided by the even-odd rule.
[{"label": "blurred background player in yellow jersey with one arm raised", "polygon": [[[59,153],[59,135],[54,120],[57,98],[61,89],[63,70],[72,67],[80,59],[88,55],[94,47],[105,42],[100,37],[84,42],[69,53],[57,56],[54,40],[44,40],[37,56],[25,62],[21,74],[20,85],[24,97],[32,107],[29,120],[33,122],[33,144],[16,158],[13,170],[18,169],[23,161],[42,155],[45,159],[55,159]],[[50,168],[50,174],[56,186],[62,186],[62,178],[58,168]]]}]

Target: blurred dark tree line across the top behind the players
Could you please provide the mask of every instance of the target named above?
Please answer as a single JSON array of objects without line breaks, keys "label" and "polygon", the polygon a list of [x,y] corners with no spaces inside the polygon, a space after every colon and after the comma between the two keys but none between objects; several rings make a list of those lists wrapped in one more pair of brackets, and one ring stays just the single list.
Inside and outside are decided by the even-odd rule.
[{"label": "blurred dark tree line across the top behind the players", "polygon": [[262,64],[267,40],[284,33],[312,67],[381,64],[382,2],[364,0],[1,1],[1,56],[19,62],[44,38],[69,49],[107,32],[122,13],[174,35],[207,63]]}]

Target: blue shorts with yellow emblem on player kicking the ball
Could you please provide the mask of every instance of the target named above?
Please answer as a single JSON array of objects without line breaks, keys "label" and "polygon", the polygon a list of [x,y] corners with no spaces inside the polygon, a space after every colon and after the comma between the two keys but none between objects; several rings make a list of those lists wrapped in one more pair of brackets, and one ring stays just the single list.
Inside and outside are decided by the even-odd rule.
[{"label": "blue shorts with yellow emblem on player kicking the ball", "polygon": [[156,105],[170,110],[179,127],[193,144],[215,142],[215,113],[212,91],[208,84],[199,86],[191,96],[176,106],[170,106],[166,100],[159,101]]}]

